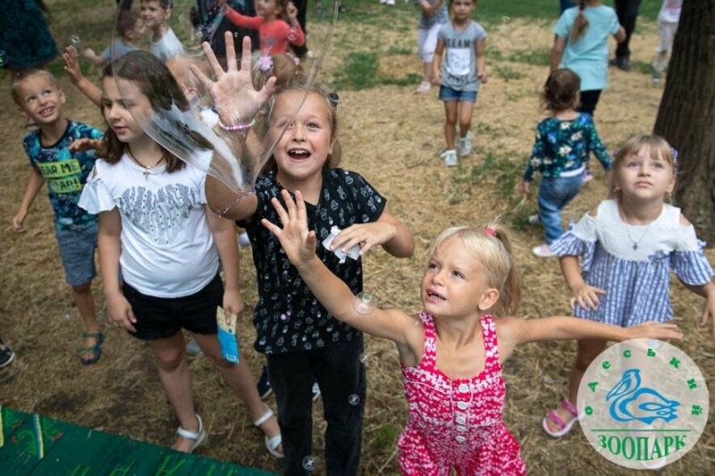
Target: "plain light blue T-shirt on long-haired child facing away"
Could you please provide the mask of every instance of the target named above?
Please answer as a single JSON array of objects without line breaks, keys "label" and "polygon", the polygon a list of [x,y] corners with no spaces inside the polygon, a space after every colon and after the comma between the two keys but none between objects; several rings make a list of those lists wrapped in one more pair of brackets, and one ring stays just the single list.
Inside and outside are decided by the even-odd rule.
[{"label": "plain light blue T-shirt on long-haired child facing away", "polygon": [[584,15],[588,28],[584,35],[573,41],[571,29],[578,16],[578,7],[569,8],[561,14],[553,32],[566,38],[566,48],[561,65],[576,71],[581,78],[581,90],[593,91],[609,86],[609,37],[618,33],[618,16],[610,6],[587,6]]}]

